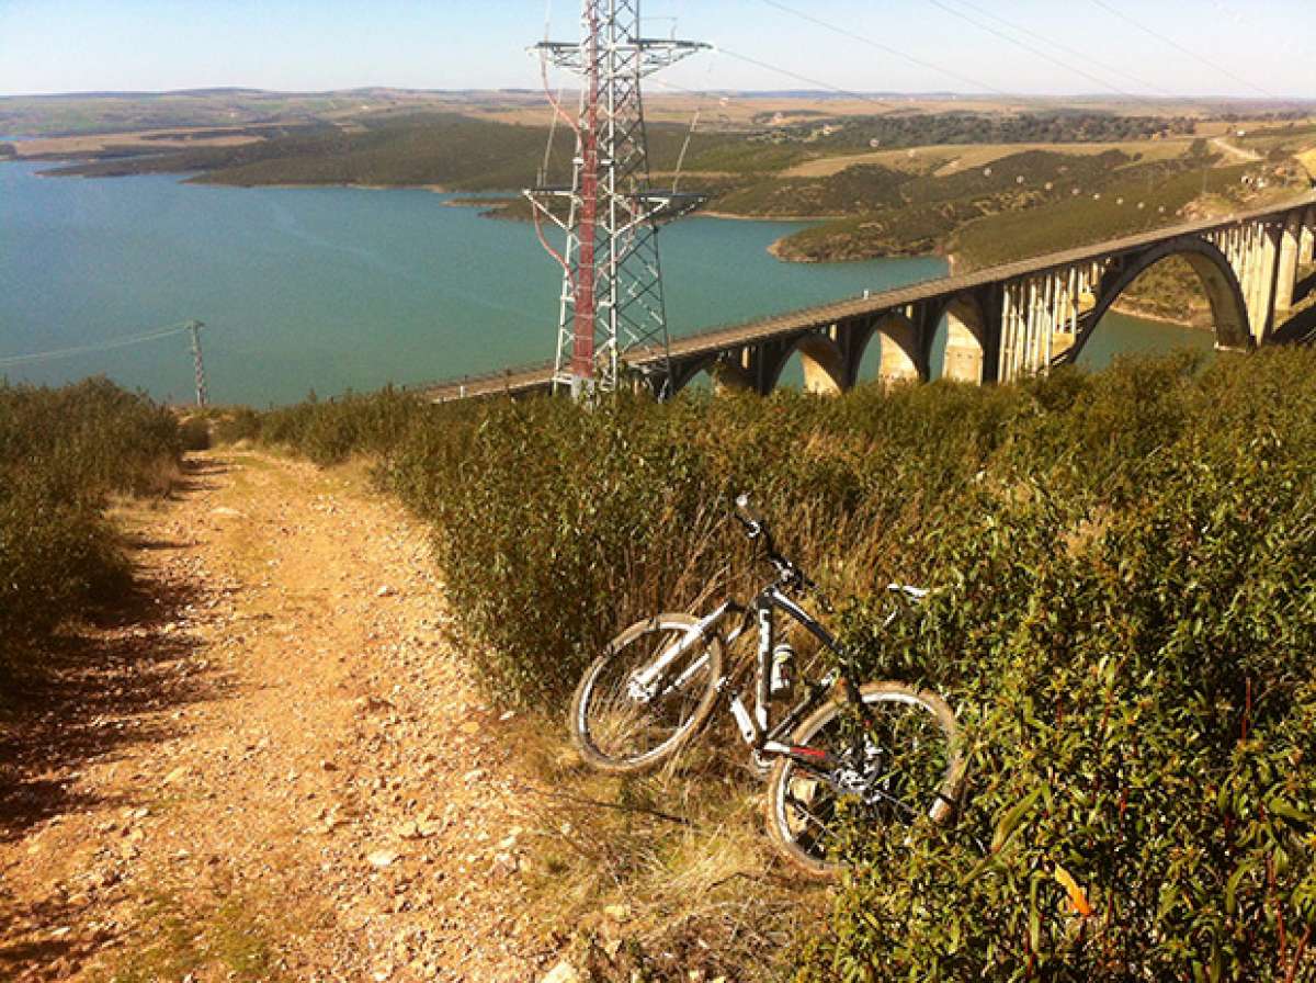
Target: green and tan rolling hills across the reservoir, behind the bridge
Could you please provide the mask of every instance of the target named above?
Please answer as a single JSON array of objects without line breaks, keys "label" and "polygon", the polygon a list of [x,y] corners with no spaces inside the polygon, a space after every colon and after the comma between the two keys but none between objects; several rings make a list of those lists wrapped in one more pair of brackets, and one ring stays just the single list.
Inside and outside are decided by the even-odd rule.
[{"label": "green and tan rolling hills across the reservoir, behind the bridge", "polygon": [[[1076,111],[912,112],[809,117],[749,132],[658,122],[647,139],[654,183],[675,180],[680,163],[682,189],[705,193],[712,212],[826,220],[779,242],[782,259],[954,253],[976,267],[1169,225],[1203,196],[1233,208],[1255,200],[1262,183],[1270,196],[1311,187],[1292,157],[1316,142],[1308,124],[1262,126],[1242,139],[1246,150],[1229,154],[1219,139],[1194,139],[1202,125],[1184,116]],[[384,114],[313,122],[241,146],[116,146],[107,159],[55,174],[507,191],[540,179],[547,139],[542,125],[461,112]],[[572,143],[558,128],[549,184],[570,180]],[[1240,164],[1238,153],[1257,161]],[[811,174],[826,162],[836,168]],[[529,205],[515,200],[488,213],[528,218]]]}]

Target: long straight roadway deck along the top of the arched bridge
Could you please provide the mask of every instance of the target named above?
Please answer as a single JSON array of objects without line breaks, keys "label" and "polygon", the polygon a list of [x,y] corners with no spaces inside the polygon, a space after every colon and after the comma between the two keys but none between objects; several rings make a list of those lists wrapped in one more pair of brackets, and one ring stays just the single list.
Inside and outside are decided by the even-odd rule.
[{"label": "long straight roadway deck along the top of the arched bridge", "polygon": [[[866,297],[851,297],[830,304],[791,311],[783,315],[762,317],[744,324],[721,325],[711,328],[697,334],[688,334],[671,341],[670,351],[674,359],[690,359],[703,355],[712,355],[719,351],[733,349],[738,345],[747,345],[770,338],[796,334],[817,328],[826,328],[837,321],[854,317],[880,315],[887,311],[896,311],[909,304],[926,300],[950,299],[961,293],[984,287],[992,283],[1013,280],[1020,276],[1044,274],[1084,262],[1133,253],[1146,246],[1179,238],[1182,236],[1200,236],[1203,233],[1228,229],[1232,225],[1258,218],[1283,214],[1304,205],[1316,204],[1316,193],[1305,195],[1283,204],[1257,208],[1248,212],[1238,212],[1225,218],[1212,218],[1199,222],[1184,222],[1166,226],[1154,232],[1138,236],[1126,236],[1108,242],[1099,242],[1080,249],[1070,249],[1061,253],[1050,253],[1032,259],[1021,259],[1013,263],[992,266],[975,272],[957,276],[942,276],[933,280],[924,280],[908,287],[896,287],[871,293]],[[632,365],[644,366],[662,358],[658,350],[630,353],[626,361]],[[426,399],[436,403],[446,403],[453,399],[466,399],[475,396],[491,396],[497,393],[528,392],[546,387],[553,376],[553,363],[541,362],[533,366],[509,368],[500,372],[490,372],[480,376],[450,380],[436,386],[417,387]]]}]

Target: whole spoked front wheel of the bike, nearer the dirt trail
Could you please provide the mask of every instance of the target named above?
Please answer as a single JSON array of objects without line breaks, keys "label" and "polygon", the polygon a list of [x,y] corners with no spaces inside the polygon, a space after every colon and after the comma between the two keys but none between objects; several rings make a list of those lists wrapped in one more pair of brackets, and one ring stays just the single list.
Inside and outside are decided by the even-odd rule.
[{"label": "whole spoked front wheel of the bike, nearer the dirt trail", "polygon": [[637,621],[586,670],[571,701],[571,740],[587,763],[645,771],[680,750],[708,720],[722,674],[721,642],[699,640],[670,658],[696,624],[674,613]]}]

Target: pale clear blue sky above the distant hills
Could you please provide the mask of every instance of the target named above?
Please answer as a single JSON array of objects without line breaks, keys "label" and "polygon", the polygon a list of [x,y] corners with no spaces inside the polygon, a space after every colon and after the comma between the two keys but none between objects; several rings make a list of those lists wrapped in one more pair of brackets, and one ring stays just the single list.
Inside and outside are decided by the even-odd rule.
[{"label": "pale clear blue sky above the distant hills", "polygon": [[[882,53],[766,0],[647,0],[649,30],[857,91],[1316,97],[1311,0],[780,0],[963,76]],[[1165,39],[1101,9],[1109,5]],[[1054,61],[957,17],[1021,38]],[[579,3],[553,0],[554,34]],[[1001,21],[1028,28],[1023,36]],[[0,95],[243,86],[538,84],[524,47],[544,0],[0,0]],[[1062,46],[1087,53],[1079,62]],[[1057,64],[1059,62],[1059,64]],[[1091,76],[1073,70],[1080,64]],[[670,74],[690,88],[807,88],[730,54]],[[973,83],[963,79],[971,79]],[[1104,83],[1104,84],[1103,84]]]}]

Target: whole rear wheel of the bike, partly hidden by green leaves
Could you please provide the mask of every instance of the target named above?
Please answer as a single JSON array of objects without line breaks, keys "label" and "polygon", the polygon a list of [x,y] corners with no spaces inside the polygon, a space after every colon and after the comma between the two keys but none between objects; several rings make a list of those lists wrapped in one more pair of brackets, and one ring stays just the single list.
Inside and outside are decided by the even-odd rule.
[{"label": "whole rear wheel of the bike, partly hidden by green leaves", "polygon": [[[848,820],[944,822],[963,783],[955,715],[945,700],[900,683],[869,683],[859,692],[865,715],[836,700],[819,708],[796,729],[795,754],[778,758],[769,776],[769,834],[816,878],[842,869]],[[826,763],[809,763],[815,757]]]}]

